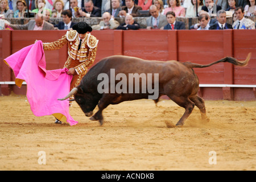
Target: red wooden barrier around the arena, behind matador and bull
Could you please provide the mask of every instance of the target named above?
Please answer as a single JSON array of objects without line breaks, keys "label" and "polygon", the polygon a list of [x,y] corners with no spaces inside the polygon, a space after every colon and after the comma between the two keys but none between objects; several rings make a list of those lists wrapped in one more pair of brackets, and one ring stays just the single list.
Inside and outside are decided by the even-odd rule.
[{"label": "red wooden barrier around the arena, behind matador and bull", "polygon": [[[208,31],[163,31],[139,30],[93,31],[99,40],[96,64],[102,58],[112,55],[135,56],[147,60],[178,60],[208,64],[225,56],[244,60],[252,52],[247,67],[234,67],[229,63],[219,63],[209,68],[196,68],[200,84],[248,84],[256,81],[256,30],[208,30]],[[36,39],[53,42],[65,31],[0,31],[0,57],[28,46]],[[62,68],[67,59],[67,46],[57,51],[46,51],[47,69]],[[11,81],[10,69],[0,63],[0,81]],[[24,86],[23,94],[26,93]],[[1,85],[1,93],[10,90],[20,93],[16,86]],[[25,90],[25,91],[24,91]],[[254,91],[254,92],[253,92]],[[205,99],[255,100],[255,88],[200,88]]]}]

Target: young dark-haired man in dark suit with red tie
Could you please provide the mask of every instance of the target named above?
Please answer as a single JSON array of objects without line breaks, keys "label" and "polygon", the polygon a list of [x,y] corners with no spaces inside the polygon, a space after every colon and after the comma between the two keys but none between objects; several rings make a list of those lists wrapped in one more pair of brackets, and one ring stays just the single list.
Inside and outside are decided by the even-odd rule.
[{"label": "young dark-haired man in dark suit with red tie", "polygon": [[185,24],[183,22],[177,22],[174,11],[168,11],[166,13],[166,19],[168,24],[164,26],[164,30],[185,30]]}]

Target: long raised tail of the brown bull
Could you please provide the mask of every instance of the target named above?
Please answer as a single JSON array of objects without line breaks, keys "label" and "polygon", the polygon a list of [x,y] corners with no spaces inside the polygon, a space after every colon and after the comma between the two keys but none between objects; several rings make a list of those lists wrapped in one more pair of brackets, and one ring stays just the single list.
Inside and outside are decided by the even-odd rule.
[{"label": "long raised tail of the brown bull", "polygon": [[188,68],[206,68],[206,67],[210,67],[213,64],[228,62],[228,63],[232,63],[234,65],[238,65],[238,66],[244,67],[244,66],[246,66],[248,64],[250,58],[251,58],[251,53],[249,53],[247,55],[245,61],[238,61],[237,59],[234,59],[234,57],[224,57],[224,58],[222,58],[222,59],[220,59],[218,61],[215,61],[213,63],[210,63],[210,64],[202,65],[202,64],[196,64],[196,63],[187,62],[187,63],[184,63],[184,65],[186,67],[188,67]]}]

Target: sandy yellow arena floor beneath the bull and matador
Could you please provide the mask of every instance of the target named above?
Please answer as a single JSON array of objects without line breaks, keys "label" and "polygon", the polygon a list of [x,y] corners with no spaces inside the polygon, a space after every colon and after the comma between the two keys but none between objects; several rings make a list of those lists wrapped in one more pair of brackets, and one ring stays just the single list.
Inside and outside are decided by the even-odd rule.
[{"label": "sandy yellow arena floor beneath the bull and matador", "polygon": [[[184,109],[170,100],[123,102],[90,121],[74,103],[76,126],[35,117],[25,96],[0,96],[0,170],[253,170],[256,101],[205,101],[181,128],[168,128]],[[40,165],[39,151],[46,154]],[[209,164],[216,154],[217,164]],[[213,160],[210,160],[212,162]]]}]

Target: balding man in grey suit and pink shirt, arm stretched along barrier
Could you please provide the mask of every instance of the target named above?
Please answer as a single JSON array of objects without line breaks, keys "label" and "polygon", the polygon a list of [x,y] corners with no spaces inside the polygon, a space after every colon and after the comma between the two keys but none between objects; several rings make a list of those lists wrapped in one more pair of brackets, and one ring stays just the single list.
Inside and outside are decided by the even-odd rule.
[{"label": "balding man in grey suit and pink shirt, arm stretched along barrier", "polygon": [[53,24],[44,21],[43,16],[35,15],[35,20],[30,20],[27,24],[10,24],[14,30],[53,30]]}]

